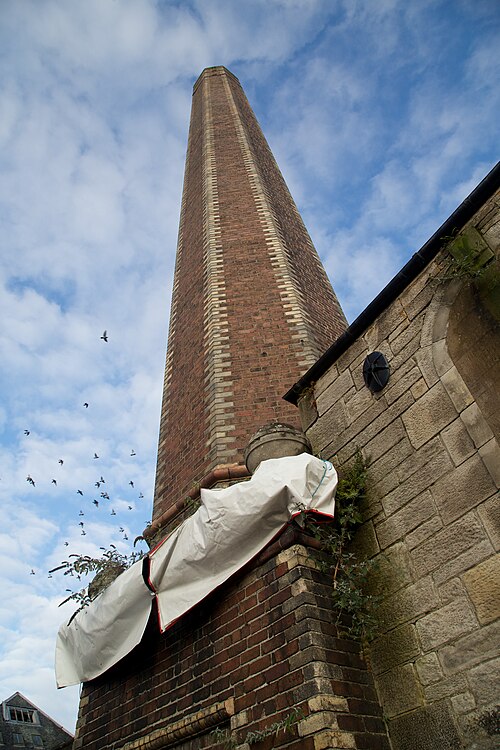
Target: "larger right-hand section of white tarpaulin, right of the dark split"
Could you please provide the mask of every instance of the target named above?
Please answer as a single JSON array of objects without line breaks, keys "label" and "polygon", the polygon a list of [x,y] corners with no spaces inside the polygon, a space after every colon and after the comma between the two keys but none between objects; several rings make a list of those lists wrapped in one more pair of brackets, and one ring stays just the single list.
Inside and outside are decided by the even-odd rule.
[{"label": "larger right-hand section of white tarpaulin, right of the dark split", "polygon": [[302,453],[263,461],[249,482],[201,490],[196,513],[150,553],[160,628],[249,562],[301,510],[333,515],[337,473]]}]

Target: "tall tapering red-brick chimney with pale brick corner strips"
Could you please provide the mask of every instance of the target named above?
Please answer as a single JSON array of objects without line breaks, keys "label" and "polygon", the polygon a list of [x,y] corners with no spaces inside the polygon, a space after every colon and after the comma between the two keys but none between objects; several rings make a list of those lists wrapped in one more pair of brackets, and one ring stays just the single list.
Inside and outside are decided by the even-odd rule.
[{"label": "tall tapering red-brick chimney with pale brick corner strips", "polygon": [[161,415],[154,519],[212,468],[242,462],[282,393],[345,327],[239,82],[193,94]]}]

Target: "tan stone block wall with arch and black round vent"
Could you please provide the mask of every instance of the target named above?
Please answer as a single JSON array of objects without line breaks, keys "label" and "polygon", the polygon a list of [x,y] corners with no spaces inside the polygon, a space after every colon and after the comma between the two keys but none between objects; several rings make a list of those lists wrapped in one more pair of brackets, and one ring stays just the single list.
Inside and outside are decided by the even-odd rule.
[{"label": "tan stone block wall with arch and black round vent", "polygon": [[[466,227],[497,278],[499,203]],[[370,463],[357,544],[378,560],[371,662],[395,750],[497,747],[477,720],[500,694],[498,286],[485,309],[481,284],[448,260],[441,251],[299,399],[323,458],[341,465],[359,447]],[[373,351],[391,368],[375,394],[362,374]]]}]

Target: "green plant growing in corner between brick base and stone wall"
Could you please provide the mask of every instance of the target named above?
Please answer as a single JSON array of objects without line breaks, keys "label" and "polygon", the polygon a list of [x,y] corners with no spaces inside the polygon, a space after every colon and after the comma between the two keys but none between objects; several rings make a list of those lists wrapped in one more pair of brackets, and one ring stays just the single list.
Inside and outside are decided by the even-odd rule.
[{"label": "green plant growing in corner between brick base and stone wall", "polygon": [[339,475],[334,522],[318,525],[306,516],[305,530],[321,542],[324,556],[318,564],[332,580],[337,625],[347,635],[366,641],[375,634],[375,610],[380,597],[367,593],[374,560],[365,559],[352,549],[366,498],[367,464],[361,451],[356,451],[353,461],[343,466]]}]

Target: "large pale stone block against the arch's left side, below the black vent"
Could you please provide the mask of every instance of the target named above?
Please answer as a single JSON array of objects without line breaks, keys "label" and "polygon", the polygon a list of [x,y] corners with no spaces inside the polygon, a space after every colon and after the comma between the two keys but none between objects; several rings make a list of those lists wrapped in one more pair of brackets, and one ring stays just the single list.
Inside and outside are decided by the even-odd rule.
[{"label": "large pale stone block against the arch's left side, below the black vent", "polygon": [[456,409],[442,383],[436,383],[403,414],[411,444],[420,448],[450,424],[456,415]]}]

